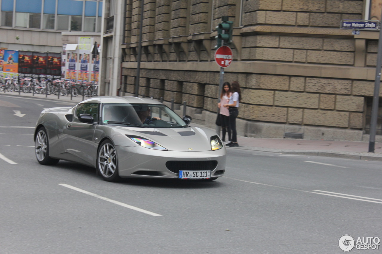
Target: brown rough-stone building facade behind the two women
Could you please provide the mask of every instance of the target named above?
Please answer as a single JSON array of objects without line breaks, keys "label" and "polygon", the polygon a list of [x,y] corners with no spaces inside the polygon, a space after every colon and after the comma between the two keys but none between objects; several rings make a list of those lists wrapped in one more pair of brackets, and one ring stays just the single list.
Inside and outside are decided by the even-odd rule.
[{"label": "brown rough-stone building facade behind the two women", "polygon": [[[241,85],[239,135],[368,141],[378,32],[339,28],[364,19],[366,2],[144,0],[139,95],[186,101],[194,122],[214,127],[215,27],[229,16],[224,81]],[[141,0],[126,0],[122,95],[134,94],[140,13]]]}]

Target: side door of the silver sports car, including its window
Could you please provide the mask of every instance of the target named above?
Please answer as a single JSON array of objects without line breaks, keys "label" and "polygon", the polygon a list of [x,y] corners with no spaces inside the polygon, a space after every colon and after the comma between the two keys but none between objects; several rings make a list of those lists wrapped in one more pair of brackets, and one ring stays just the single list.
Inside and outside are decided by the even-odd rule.
[{"label": "side door of the silver sports car, including its window", "polygon": [[[90,114],[94,118],[93,124],[79,121],[80,114]],[[78,104],[73,121],[68,122],[63,129],[63,143],[67,158],[89,166],[95,166],[97,143],[94,142],[94,130],[98,124],[99,104]]]}]

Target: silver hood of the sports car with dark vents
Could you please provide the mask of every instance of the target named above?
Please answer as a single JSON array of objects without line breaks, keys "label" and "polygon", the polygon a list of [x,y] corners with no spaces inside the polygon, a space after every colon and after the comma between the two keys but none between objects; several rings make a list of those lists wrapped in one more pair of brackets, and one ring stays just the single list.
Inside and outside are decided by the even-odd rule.
[{"label": "silver hood of the sports car with dark vents", "polygon": [[134,133],[129,132],[127,135],[147,138],[169,151],[211,151],[211,137],[217,134],[206,128],[187,127],[179,129],[134,128]]}]

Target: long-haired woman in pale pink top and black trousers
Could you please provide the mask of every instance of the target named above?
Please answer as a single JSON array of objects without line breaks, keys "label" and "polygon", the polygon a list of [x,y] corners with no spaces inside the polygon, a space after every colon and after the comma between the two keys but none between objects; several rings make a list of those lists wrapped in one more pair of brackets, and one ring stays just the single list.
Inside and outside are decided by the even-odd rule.
[{"label": "long-haired woman in pale pink top and black trousers", "polygon": [[228,103],[228,101],[231,99],[232,93],[231,93],[231,84],[229,82],[224,82],[223,84],[223,90],[220,94],[220,102],[218,103],[219,109],[220,109],[220,117],[222,119],[222,141],[225,142],[225,133],[228,132],[228,141],[231,141],[231,127],[230,127],[230,112],[228,111],[228,108],[222,107],[223,104]]}]

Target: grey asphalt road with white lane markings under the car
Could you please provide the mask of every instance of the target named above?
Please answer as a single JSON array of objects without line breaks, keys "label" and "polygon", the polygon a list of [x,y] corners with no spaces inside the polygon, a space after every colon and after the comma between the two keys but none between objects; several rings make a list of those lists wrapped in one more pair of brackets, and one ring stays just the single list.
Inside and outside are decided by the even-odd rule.
[{"label": "grey asphalt road with white lane markings under the car", "polygon": [[[332,254],[342,235],[382,238],[382,162],[228,148],[214,182],[109,183],[37,163],[40,111],[68,105],[0,95],[1,254]],[[381,253],[351,251],[366,252]]]}]

